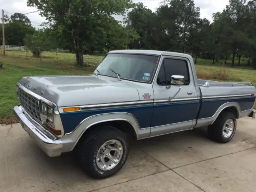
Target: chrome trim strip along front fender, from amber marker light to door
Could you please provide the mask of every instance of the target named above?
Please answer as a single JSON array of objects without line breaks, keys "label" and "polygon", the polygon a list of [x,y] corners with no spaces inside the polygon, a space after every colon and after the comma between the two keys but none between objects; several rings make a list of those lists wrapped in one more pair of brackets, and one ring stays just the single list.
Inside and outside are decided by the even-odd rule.
[{"label": "chrome trim strip along front fender, from amber marker light to door", "polygon": [[92,104],[92,105],[81,105],[81,106],[67,106],[67,107],[59,107],[58,110],[60,113],[67,113],[67,112],[63,112],[63,109],[68,107],[80,107],[81,108],[80,111],[82,111],[82,110],[88,110],[88,109],[96,110],[96,109],[110,108],[110,107],[138,106],[138,105],[146,105],[146,104],[153,104],[153,100]]}]

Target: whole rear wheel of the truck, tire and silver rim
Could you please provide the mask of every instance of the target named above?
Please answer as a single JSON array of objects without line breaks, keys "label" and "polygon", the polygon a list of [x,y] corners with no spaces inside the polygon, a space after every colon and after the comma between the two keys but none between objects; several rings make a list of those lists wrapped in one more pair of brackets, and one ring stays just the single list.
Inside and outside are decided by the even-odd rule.
[{"label": "whole rear wheel of the truck, tire and silver rim", "polygon": [[216,121],[208,126],[210,138],[219,143],[227,143],[232,140],[236,132],[236,117],[230,112],[222,112]]}]

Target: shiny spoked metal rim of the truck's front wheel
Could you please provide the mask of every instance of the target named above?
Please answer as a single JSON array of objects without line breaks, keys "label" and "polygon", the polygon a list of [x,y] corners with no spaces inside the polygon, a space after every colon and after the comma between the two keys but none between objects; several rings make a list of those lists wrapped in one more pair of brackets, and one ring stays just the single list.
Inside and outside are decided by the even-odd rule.
[{"label": "shiny spoked metal rim of the truck's front wheel", "polygon": [[97,152],[96,163],[101,170],[111,170],[118,165],[123,155],[120,141],[112,139],[105,142]]}]

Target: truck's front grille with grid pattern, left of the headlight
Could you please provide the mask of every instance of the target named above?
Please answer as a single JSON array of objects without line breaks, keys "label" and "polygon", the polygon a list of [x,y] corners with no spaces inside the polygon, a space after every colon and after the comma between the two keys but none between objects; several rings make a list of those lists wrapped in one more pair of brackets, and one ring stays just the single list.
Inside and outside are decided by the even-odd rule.
[{"label": "truck's front grille with grid pattern, left of the headlight", "polygon": [[26,110],[26,112],[37,122],[41,122],[39,112],[39,102],[36,98],[30,96],[23,90],[18,90],[18,97],[20,99],[20,105]]}]

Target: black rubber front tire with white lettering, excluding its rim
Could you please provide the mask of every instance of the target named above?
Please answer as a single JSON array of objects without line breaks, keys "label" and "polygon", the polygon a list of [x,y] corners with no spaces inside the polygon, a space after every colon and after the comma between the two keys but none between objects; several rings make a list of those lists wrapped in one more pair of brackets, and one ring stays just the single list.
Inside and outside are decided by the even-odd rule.
[{"label": "black rubber front tire with white lettering, excluding its rim", "polygon": [[[123,147],[123,154],[120,162],[110,170],[102,170],[96,163],[96,154],[99,148],[108,140],[118,140]],[[129,154],[129,143],[126,135],[112,127],[102,126],[94,127],[82,140],[78,143],[76,156],[80,166],[86,174],[92,178],[108,178],[116,174],[122,166],[124,166]]]}]

